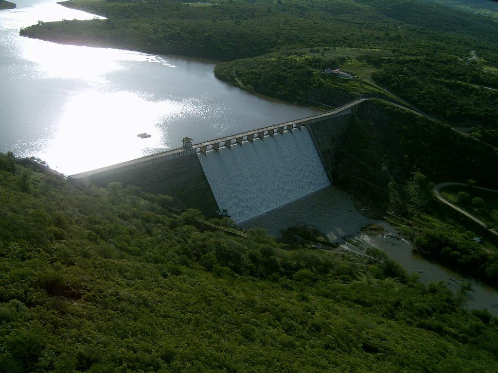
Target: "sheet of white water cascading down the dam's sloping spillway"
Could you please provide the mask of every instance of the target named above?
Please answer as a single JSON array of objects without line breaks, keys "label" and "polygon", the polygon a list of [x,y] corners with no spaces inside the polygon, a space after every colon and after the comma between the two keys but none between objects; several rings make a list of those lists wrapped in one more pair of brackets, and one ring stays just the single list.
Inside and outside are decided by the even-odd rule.
[{"label": "sheet of white water cascading down the dam's sloping spillway", "polygon": [[198,156],[218,206],[237,223],[330,185],[305,127]]}]

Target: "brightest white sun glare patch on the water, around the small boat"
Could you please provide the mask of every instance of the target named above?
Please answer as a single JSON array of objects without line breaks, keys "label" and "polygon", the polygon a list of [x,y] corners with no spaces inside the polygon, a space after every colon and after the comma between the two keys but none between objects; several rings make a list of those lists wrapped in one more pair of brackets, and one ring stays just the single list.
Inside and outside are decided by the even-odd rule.
[{"label": "brightest white sun glare patch on the water, around the small boat", "polygon": [[[151,149],[161,146],[164,139],[157,127],[161,119],[184,109],[174,101],[147,101],[127,92],[78,94],[64,107],[56,135],[40,158],[57,169],[85,171],[102,166],[102,158],[110,164],[122,162],[123,149],[130,159],[141,157],[140,143],[146,141]],[[137,137],[137,123],[141,123],[140,132],[152,137]],[[85,157],[68,157],[75,153]]]}]

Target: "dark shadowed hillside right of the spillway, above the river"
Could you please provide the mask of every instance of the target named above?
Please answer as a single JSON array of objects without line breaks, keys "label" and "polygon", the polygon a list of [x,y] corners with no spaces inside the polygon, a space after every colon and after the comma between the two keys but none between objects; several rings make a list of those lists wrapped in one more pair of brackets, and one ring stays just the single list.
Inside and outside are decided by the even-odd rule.
[{"label": "dark shadowed hillside right of the spillway, above the river", "polygon": [[[432,192],[434,184],[448,181],[497,189],[497,149],[375,100],[345,120],[312,126],[334,184],[397,226],[423,255],[497,286],[497,238],[442,205]],[[476,236],[484,242],[477,244]]]}]

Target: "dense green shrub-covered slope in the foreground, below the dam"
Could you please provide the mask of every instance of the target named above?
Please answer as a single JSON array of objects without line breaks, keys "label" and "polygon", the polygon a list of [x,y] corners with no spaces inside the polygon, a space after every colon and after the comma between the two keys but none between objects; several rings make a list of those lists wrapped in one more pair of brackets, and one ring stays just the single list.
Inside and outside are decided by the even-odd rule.
[{"label": "dense green shrub-covered slope in the foreground, below the dam", "polygon": [[424,286],[381,255],[206,231],[197,212],[163,207],[166,197],[80,191],[14,161],[0,155],[0,372],[498,364],[497,319],[464,311],[464,290]]}]

